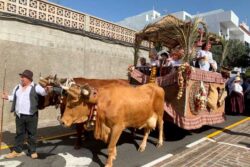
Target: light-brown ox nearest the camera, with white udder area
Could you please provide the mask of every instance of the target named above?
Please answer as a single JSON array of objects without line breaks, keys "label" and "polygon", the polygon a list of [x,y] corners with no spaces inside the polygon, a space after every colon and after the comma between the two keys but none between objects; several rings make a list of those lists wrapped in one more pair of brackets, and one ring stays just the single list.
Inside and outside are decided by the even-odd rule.
[{"label": "light-brown ox nearest the camera, with white udder area", "polygon": [[159,129],[157,146],[163,144],[164,90],[156,84],[127,87],[110,84],[93,90],[88,86],[68,90],[67,105],[62,122],[70,126],[78,120],[87,120],[90,108],[96,104],[94,135],[109,142],[106,166],[116,158],[116,143],[125,128],[144,128],[145,135],[139,147],[144,151],[150,130]]}]

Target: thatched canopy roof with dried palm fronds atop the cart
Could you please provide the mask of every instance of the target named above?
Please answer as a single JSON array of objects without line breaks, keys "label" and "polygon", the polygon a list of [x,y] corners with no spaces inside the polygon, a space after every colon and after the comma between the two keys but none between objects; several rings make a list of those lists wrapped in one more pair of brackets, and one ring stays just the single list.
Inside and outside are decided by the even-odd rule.
[{"label": "thatched canopy roof with dried palm fronds atop the cart", "polygon": [[200,18],[184,22],[172,15],[168,15],[155,23],[147,25],[135,36],[135,64],[142,41],[160,43],[169,49],[180,46],[185,50],[183,59],[188,61],[197,41],[201,40],[200,31],[204,32],[203,42],[209,40],[214,43],[219,39],[215,34],[207,33],[206,24]]}]

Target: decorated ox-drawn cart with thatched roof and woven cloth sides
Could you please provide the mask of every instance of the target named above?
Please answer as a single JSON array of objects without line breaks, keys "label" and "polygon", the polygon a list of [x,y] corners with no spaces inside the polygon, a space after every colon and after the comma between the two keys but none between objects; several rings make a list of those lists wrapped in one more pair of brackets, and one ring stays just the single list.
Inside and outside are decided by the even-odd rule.
[{"label": "decorated ox-drawn cart with thatched roof and woven cloth sides", "polygon": [[[201,27],[204,33],[201,33]],[[159,67],[137,67],[129,70],[133,84],[153,81],[164,88],[168,120],[187,130],[225,121],[226,80],[220,73],[202,71],[189,65],[195,47],[208,40],[213,44],[219,43],[215,35],[209,36],[206,32],[206,25],[199,19],[184,22],[173,16],[166,16],[148,25],[136,34],[135,66],[140,45],[145,40],[149,42],[149,46],[160,43],[171,50],[180,45],[185,50],[185,63],[180,67],[173,67],[172,70],[166,69],[168,72],[164,76],[155,75],[157,72],[152,75],[151,71],[162,70]]]}]

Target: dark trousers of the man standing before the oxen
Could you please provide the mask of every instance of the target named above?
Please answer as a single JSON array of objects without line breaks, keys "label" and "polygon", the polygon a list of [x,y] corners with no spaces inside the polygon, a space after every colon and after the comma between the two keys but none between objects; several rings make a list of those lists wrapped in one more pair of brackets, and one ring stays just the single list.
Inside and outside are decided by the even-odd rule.
[{"label": "dark trousers of the man standing before the oxen", "polygon": [[22,115],[20,118],[16,115],[16,137],[13,148],[17,153],[22,152],[26,132],[28,134],[28,153],[36,152],[38,112],[34,115]]}]

